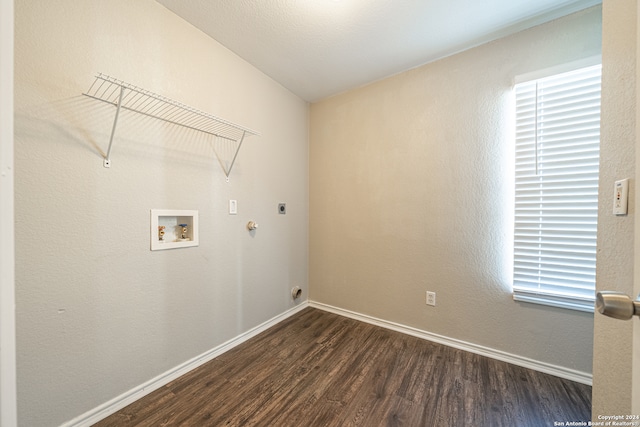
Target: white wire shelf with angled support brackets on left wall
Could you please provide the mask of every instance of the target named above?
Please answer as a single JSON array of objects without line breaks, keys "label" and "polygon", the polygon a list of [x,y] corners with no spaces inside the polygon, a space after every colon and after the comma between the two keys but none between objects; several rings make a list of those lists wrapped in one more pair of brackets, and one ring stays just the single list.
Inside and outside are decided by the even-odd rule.
[{"label": "white wire shelf with angled support brackets on left wall", "polygon": [[249,128],[231,123],[220,117],[205,113],[204,111],[102,73],[95,76],[93,84],[83,95],[116,107],[109,147],[107,148],[103,163],[106,168],[111,166],[113,137],[118,125],[120,111],[123,109],[162,120],[176,126],[202,132],[216,139],[234,144],[232,158],[229,159],[226,166],[220,158],[218,159],[220,160],[227,179],[229,178],[244,138],[251,135],[259,135],[258,132]]}]

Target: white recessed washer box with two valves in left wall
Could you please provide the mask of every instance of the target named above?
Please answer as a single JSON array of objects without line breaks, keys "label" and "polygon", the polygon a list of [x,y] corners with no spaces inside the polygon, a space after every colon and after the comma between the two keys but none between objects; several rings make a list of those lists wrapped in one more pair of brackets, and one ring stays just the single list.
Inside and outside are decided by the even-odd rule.
[{"label": "white recessed washer box with two valves in left wall", "polygon": [[151,250],[198,246],[198,211],[151,209]]}]

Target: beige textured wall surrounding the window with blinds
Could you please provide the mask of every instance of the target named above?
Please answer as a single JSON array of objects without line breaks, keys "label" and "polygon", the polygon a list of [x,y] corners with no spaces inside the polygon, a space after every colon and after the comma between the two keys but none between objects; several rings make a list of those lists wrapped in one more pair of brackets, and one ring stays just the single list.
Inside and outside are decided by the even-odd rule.
[{"label": "beige textured wall surrounding the window with blinds", "polygon": [[595,7],[313,104],[310,299],[591,372],[592,314],[512,300],[510,111],[600,48]]}]

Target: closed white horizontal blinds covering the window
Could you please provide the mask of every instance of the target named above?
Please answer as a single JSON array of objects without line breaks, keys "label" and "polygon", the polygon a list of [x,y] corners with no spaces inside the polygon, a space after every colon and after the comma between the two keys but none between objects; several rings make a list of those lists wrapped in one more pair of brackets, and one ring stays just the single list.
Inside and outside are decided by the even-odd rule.
[{"label": "closed white horizontal blinds covering the window", "polygon": [[514,299],[593,311],[601,66],[520,83]]}]

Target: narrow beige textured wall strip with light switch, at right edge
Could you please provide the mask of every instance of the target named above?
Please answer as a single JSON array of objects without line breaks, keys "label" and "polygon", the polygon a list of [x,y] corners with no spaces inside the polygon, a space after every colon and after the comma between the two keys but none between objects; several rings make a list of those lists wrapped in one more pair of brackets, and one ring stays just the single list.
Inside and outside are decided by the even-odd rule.
[{"label": "narrow beige textured wall strip with light switch, at right edge", "polygon": [[[598,213],[598,290],[633,295],[635,182],[629,215],[611,212],[614,182],[635,177],[637,2],[603,3],[602,135]],[[633,322],[596,316],[593,416],[631,413]]]}]

